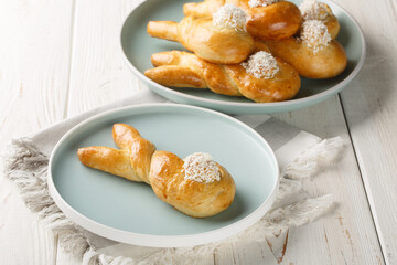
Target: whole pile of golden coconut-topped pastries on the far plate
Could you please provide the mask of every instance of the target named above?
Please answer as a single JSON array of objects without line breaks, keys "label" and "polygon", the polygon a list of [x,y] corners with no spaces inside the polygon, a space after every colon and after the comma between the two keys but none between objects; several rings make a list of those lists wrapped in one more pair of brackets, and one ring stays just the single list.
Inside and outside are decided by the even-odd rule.
[{"label": "whole pile of golden coconut-topped pastries on the far plate", "polygon": [[183,11],[179,23],[148,23],[151,36],[190,51],[152,54],[144,74],[161,85],[281,102],[296,96],[300,77],[332,78],[347,65],[337,19],[318,0],[205,0]]}]

